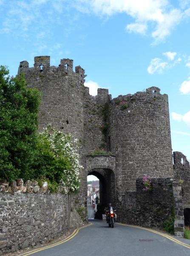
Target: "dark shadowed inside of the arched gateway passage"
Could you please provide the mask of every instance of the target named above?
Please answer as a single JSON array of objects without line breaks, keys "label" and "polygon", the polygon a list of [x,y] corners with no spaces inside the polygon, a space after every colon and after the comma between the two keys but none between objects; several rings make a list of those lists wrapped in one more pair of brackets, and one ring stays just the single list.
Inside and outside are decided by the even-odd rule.
[{"label": "dark shadowed inside of the arched gateway passage", "polygon": [[[91,169],[88,175],[94,175],[99,180],[98,200],[95,200],[94,218],[102,218],[102,213],[109,203],[115,204],[115,174],[111,169]],[[89,199],[88,199],[89,201]]]}]

